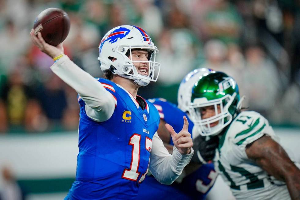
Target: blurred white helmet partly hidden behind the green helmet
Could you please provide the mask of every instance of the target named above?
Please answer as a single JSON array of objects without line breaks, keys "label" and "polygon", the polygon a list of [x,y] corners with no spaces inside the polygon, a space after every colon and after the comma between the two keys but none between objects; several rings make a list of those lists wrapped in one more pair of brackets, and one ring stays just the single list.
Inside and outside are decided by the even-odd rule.
[{"label": "blurred white helmet partly hidden behind the green helmet", "polygon": [[215,73],[208,68],[199,68],[191,71],[181,81],[178,89],[178,108],[184,112],[189,111],[193,86],[204,74]]}]

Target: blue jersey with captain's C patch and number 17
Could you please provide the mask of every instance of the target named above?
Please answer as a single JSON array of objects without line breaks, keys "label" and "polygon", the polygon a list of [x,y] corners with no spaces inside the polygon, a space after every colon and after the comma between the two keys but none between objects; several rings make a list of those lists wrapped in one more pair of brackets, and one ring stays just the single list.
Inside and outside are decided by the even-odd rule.
[{"label": "blue jersey with captain's C patch and number 17", "polygon": [[88,117],[79,97],[79,153],[76,181],[66,199],[132,199],[150,159],[159,113],[144,100],[144,110],[130,93],[106,79],[98,80],[117,100],[110,119]]}]

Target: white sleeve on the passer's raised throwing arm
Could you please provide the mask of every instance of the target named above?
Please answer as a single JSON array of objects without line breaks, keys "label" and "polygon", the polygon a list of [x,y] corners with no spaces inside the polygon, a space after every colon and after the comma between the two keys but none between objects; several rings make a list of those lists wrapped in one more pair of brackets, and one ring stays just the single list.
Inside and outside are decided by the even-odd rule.
[{"label": "white sleeve on the passer's raised throwing arm", "polygon": [[91,119],[103,122],[112,116],[116,105],[114,96],[68,56],[64,55],[50,68],[81,96],[86,104],[85,111]]}]

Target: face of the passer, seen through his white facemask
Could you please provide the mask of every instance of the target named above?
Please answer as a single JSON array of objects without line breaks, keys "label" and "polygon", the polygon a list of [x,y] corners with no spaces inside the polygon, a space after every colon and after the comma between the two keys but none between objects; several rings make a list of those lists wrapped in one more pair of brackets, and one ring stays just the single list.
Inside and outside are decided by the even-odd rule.
[{"label": "face of the passer, seen through his white facemask", "polygon": [[[131,51],[133,61],[148,61],[148,51],[135,49]],[[129,57],[130,58],[130,57]],[[148,76],[149,62],[133,62],[137,71],[141,75]]]}]

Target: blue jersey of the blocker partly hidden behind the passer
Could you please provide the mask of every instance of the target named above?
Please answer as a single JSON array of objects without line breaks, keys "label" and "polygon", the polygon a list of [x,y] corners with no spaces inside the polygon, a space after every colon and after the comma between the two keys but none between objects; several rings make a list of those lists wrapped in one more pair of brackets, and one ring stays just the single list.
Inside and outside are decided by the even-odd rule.
[{"label": "blue jersey of the blocker partly hidden behind the passer", "polygon": [[[194,125],[185,112],[161,98],[150,101],[159,111],[160,118],[173,126],[176,133],[182,129],[185,115],[189,121],[189,133],[192,133]],[[170,144],[173,144],[172,139]],[[181,183],[174,182],[172,185],[162,185],[150,176],[144,180],[136,199],[203,200],[212,188],[216,177],[217,173],[213,164],[201,165],[196,171],[187,175]]]}]

